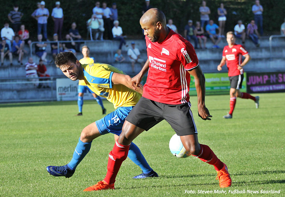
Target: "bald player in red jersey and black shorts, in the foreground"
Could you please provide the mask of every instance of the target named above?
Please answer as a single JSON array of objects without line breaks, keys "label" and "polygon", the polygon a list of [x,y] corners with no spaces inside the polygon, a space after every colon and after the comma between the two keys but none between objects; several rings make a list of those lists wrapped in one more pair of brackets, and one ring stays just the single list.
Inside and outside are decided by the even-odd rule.
[{"label": "bald player in red jersey and black shorts, in the foreground", "polygon": [[203,120],[211,120],[212,116],[205,106],[205,77],[193,46],[166,26],[165,15],[157,8],[146,11],[140,24],[146,36],[148,60],[141,72],[132,79],[132,85],[135,89],[148,71],[143,97],[127,116],[122,133],[109,153],[104,180],[84,191],[113,189],[133,139],[163,119],[180,136],[187,151],[214,166],[220,187],[231,186],[227,166],[207,145],[198,142],[188,94],[190,74],[195,78],[199,116]]}]

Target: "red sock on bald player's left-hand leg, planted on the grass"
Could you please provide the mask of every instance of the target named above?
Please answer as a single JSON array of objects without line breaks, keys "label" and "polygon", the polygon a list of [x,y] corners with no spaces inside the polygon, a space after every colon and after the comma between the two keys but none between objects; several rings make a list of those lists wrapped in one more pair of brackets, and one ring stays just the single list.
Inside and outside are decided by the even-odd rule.
[{"label": "red sock on bald player's left-hand leg, planted on the grass", "polygon": [[109,160],[107,165],[107,174],[104,181],[108,184],[113,184],[115,182],[116,176],[119,172],[121,164],[128,157],[129,147],[121,145],[116,141],[112,151],[109,153]]}]

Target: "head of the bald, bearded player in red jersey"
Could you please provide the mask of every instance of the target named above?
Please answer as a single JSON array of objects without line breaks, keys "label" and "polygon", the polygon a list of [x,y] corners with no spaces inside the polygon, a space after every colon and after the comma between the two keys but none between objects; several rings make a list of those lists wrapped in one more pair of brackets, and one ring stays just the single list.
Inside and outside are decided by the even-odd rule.
[{"label": "head of the bald, bearded player in red jersey", "polygon": [[166,37],[165,34],[168,34],[165,15],[157,8],[151,8],[146,11],[140,19],[140,24],[144,29],[144,35],[151,42],[161,42]]}]

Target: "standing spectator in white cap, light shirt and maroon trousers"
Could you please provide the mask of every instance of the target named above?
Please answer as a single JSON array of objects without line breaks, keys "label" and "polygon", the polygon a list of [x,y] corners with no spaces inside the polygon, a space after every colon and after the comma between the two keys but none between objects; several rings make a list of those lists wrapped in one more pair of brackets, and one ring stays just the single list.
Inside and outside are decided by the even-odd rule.
[{"label": "standing spectator in white cap, light shirt and maroon trousers", "polygon": [[63,25],[63,10],[60,7],[60,2],[55,2],[56,7],[52,9],[52,20],[54,21],[54,34],[58,34],[58,39],[61,40],[62,25]]}]

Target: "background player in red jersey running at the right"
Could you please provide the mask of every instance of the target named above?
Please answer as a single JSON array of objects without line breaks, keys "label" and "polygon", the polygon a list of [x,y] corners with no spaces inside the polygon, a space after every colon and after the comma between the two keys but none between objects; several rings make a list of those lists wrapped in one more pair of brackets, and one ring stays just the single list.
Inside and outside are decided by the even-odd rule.
[{"label": "background player in red jersey running at the right", "polygon": [[[218,70],[222,70],[222,66],[227,63],[228,75],[231,84],[230,89],[230,111],[227,115],[224,115],[223,118],[232,118],[233,110],[235,109],[236,98],[252,99],[255,101],[256,108],[259,107],[259,96],[253,97],[246,92],[241,92],[243,82],[243,67],[249,62],[251,57],[249,53],[241,44],[235,44],[235,34],[232,31],[227,33],[227,42],[228,46],[224,47],[223,58],[221,63],[218,65]],[[241,62],[241,56],[245,57],[245,60]]]}]

